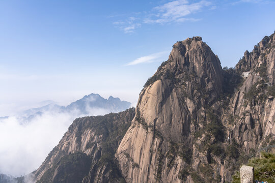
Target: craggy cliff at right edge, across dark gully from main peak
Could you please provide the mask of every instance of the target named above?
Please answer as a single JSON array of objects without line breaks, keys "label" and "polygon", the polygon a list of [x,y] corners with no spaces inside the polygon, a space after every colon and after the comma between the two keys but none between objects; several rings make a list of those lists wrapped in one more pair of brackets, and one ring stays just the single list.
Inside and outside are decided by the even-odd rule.
[{"label": "craggy cliff at right edge, across dark gully from main peak", "polygon": [[236,66],[237,72],[250,71],[250,74],[235,92],[226,114],[234,116],[232,137],[246,154],[268,146],[272,139],[271,143],[275,144],[274,65],[275,36],[272,34],[264,37],[252,52],[245,51]]}]

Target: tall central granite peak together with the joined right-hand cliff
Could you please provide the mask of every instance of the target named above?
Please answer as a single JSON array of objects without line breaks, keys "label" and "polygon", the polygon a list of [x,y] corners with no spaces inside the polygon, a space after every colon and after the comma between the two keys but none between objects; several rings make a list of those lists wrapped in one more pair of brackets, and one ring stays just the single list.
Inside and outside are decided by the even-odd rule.
[{"label": "tall central granite peak together with the joined right-hand cliff", "polygon": [[[145,84],[117,150],[125,180],[231,181],[235,168],[274,139],[274,39],[224,70],[200,37],[177,42]],[[243,71],[248,78],[240,78]]]}]

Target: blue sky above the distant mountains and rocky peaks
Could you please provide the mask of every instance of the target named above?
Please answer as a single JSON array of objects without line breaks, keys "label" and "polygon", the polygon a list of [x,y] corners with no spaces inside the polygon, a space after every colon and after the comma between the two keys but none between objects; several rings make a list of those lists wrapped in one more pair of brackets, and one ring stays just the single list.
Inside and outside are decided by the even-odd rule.
[{"label": "blue sky above the distant mountains and rocky peaks", "polygon": [[274,9],[273,0],[0,0],[0,115],[90,93],[134,103],[188,37],[234,67],[274,32]]}]

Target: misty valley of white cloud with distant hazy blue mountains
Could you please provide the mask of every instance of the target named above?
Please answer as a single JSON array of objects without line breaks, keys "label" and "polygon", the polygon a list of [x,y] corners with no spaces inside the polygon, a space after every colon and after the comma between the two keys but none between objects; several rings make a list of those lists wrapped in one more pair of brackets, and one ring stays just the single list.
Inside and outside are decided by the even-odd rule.
[{"label": "misty valley of white cloud with distant hazy blue mountains", "polygon": [[129,107],[129,102],[119,98],[107,100],[91,94],[67,107],[50,104],[1,117],[0,173],[18,177],[36,170],[75,118],[104,115]]}]

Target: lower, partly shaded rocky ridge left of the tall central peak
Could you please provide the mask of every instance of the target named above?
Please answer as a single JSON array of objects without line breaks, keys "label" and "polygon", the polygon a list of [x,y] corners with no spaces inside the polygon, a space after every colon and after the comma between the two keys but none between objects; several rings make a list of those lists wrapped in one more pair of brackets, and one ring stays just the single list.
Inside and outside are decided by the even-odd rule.
[{"label": "lower, partly shaded rocky ridge left of the tall central peak", "polygon": [[37,182],[119,182],[114,162],[135,111],[77,118],[35,171]]}]

